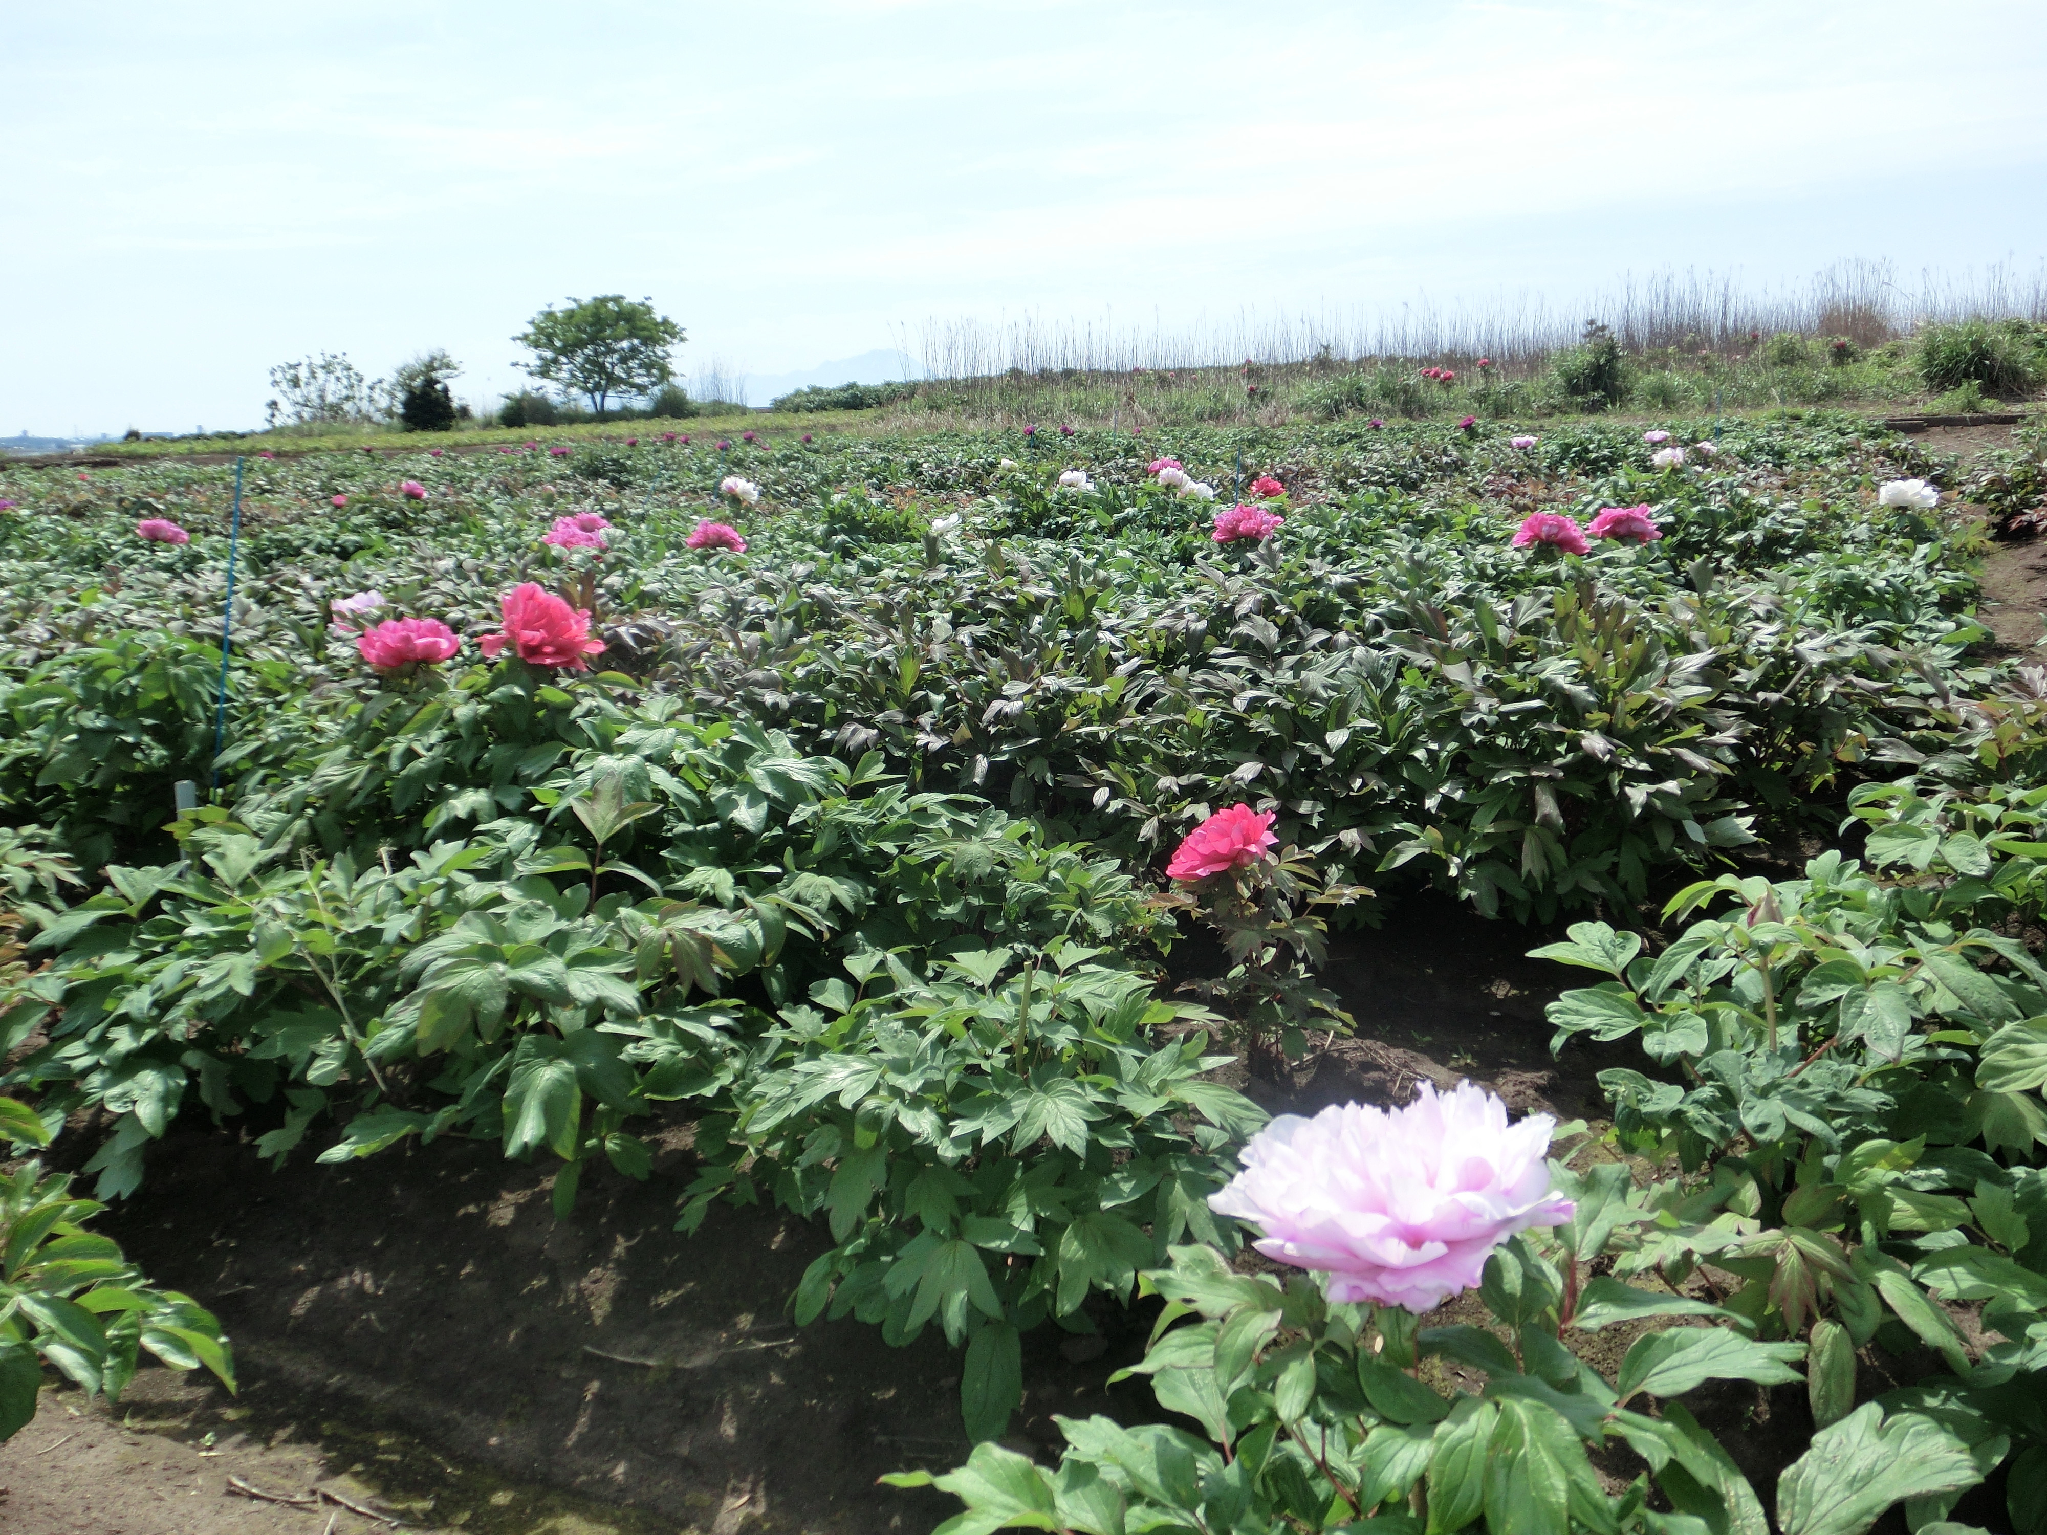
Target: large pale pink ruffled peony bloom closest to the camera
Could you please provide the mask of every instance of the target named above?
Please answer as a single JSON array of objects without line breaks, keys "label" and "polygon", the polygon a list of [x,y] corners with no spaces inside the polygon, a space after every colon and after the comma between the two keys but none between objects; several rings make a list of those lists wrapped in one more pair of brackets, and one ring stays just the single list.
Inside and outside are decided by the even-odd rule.
[{"label": "large pale pink ruffled peony bloom closest to the camera", "polygon": [[1265,1257],[1326,1273],[1333,1302],[1433,1312],[1474,1289],[1509,1236],[1576,1214],[1550,1191],[1554,1130],[1548,1113],[1507,1124],[1507,1105],[1470,1083],[1441,1097],[1423,1083],[1404,1109],[1281,1113],[1208,1203],[1259,1226]]}]

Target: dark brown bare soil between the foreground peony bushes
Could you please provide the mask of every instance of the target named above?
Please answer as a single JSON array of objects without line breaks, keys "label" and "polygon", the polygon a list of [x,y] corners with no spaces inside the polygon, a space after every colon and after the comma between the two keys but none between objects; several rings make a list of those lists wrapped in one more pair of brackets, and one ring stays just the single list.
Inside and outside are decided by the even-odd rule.
[{"label": "dark brown bare soil between the foreground peony bushes", "polygon": [[[1472,1077],[1517,1109],[1597,1111],[1595,1070],[1611,1062],[1548,1056],[1543,1003],[1576,982],[1521,958],[1545,937],[1445,898],[1400,903],[1382,929],[1339,935],[1324,970],[1357,1036],[1316,1038],[1294,1083],[1247,1091],[1314,1111]],[[555,1222],[551,1169],[495,1144],[346,1167],[301,1154],[272,1173],[186,1115],[143,1191],[100,1224],[221,1316],[242,1396],[158,1369],[113,1412],[49,1388],[35,1424],[0,1445],[0,1529],[317,1533],[330,1515],[336,1531],[368,1529],[334,1504],[256,1504],[229,1476],[293,1496],[334,1486],[467,1531],[933,1527],[950,1498],[876,1478],[964,1459],[958,1357],[935,1330],[890,1349],[856,1320],[788,1324],[829,1244],[804,1222],[721,1205],[676,1234],[688,1138],[671,1124],[647,1183],[594,1179]],[[1054,1412],[1157,1410],[1142,1382],[1107,1386],[1142,1355],[1150,1312],[1091,1316],[1093,1336],[1026,1343],[1017,1449],[1056,1457]]]}]

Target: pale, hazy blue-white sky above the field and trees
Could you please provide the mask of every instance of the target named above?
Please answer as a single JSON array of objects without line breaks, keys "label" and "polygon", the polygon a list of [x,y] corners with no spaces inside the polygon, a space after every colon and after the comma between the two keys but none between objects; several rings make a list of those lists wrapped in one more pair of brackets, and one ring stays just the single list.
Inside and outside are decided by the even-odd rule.
[{"label": "pale, hazy blue-white sky above the field and trees", "polygon": [[[2047,256],[2039,0],[6,6],[0,434],[250,428],[268,368],[522,383],[651,297],[684,375],[962,317],[1758,287]],[[755,403],[764,403],[755,399]]]}]

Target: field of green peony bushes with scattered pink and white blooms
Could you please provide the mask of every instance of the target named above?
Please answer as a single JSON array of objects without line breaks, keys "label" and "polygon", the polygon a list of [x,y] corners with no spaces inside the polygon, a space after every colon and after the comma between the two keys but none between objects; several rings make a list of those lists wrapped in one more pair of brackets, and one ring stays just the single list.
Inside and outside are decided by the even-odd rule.
[{"label": "field of green peony bushes with scattered pink and white blooms", "polygon": [[2039,428],[635,426],[0,461],[0,1439],[2047,1535]]}]

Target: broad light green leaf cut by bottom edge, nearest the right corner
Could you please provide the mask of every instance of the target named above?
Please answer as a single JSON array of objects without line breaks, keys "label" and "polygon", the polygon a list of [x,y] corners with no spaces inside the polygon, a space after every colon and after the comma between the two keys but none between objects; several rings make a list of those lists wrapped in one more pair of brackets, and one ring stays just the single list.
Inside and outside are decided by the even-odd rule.
[{"label": "broad light green leaf cut by bottom edge, nearest the right corner", "polygon": [[1865,1402],[1830,1429],[1777,1482],[1783,1535],[1863,1535],[1906,1498],[1959,1492],[1984,1480],[1969,1447],[1916,1412],[1883,1416]]}]

